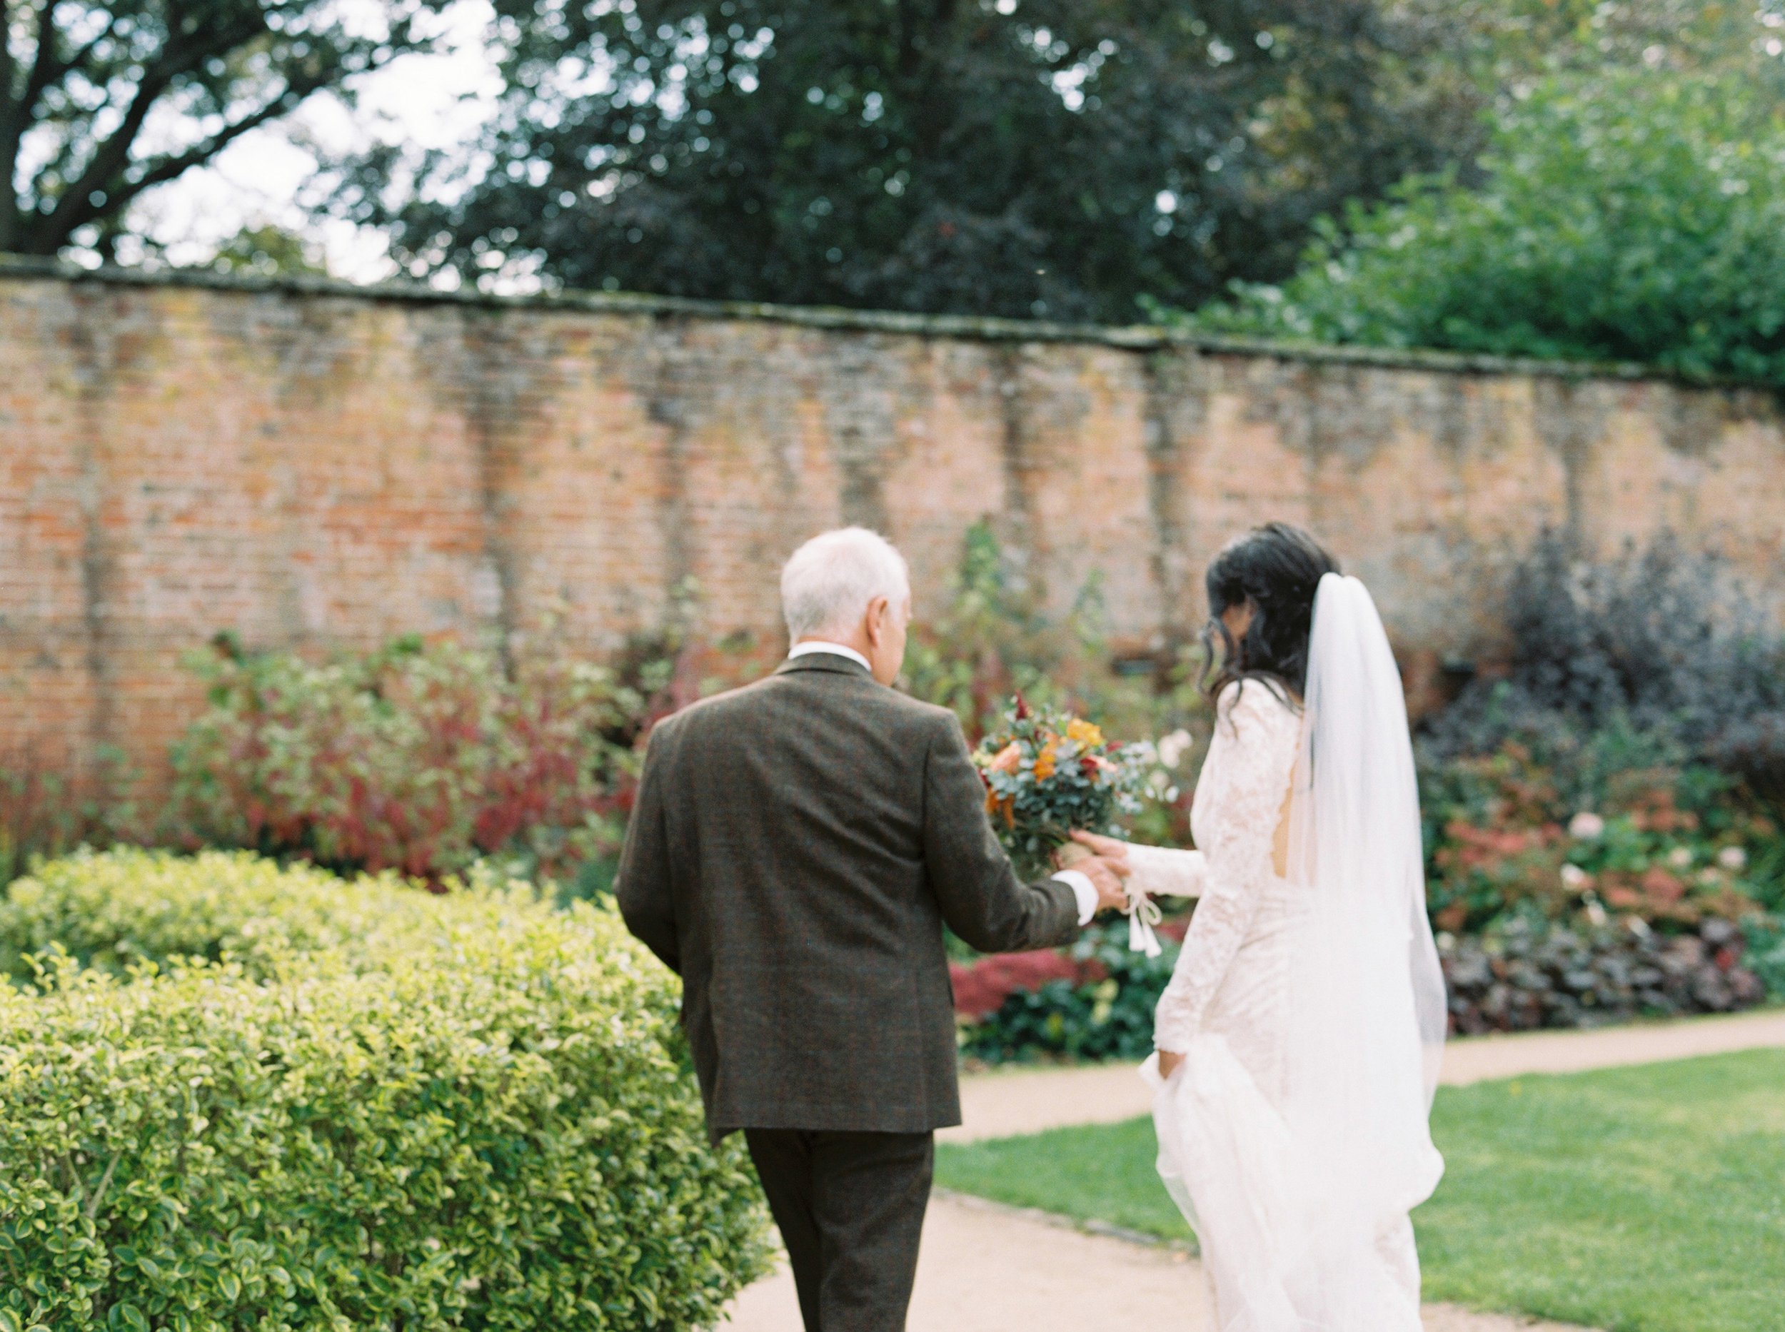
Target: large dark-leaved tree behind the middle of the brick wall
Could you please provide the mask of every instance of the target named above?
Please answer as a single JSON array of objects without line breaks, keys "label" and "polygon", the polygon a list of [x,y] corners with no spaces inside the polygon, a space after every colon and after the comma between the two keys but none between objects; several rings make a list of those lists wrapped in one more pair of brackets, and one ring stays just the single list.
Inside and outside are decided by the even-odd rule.
[{"label": "large dark-leaved tree behind the middle of the brick wall", "polygon": [[1471,141],[1376,0],[494,2],[477,150],[341,195],[418,277],[1132,320]]}]

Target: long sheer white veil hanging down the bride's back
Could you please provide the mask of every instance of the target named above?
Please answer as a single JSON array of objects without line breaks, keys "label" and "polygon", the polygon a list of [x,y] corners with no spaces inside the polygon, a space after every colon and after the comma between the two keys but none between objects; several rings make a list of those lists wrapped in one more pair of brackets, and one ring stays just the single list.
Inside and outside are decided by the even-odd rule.
[{"label": "long sheer white veil hanging down the bride's back", "polygon": [[[1289,811],[1289,880],[1310,896],[1283,1102],[1310,1171],[1307,1327],[1387,1328],[1371,1321],[1385,1309],[1376,1282],[1405,1277],[1412,1237],[1401,1253],[1398,1230],[1444,1170],[1430,1114],[1448,1023],[1401,675],[1369,589],[1337,573],[1314,596]],[[1417,1303],[1407,1314],[1419,1327]]]}]

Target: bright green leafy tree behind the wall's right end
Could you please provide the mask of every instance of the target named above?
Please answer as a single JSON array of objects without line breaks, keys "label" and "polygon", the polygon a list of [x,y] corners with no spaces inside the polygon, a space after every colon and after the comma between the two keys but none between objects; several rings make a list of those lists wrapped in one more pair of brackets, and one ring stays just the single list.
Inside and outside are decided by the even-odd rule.
[{"label": "bright green leafy tree behind the wall's right end", "polygon": [[1483,168],[1353,207],[1287,282],[1192,323],[1785,384],[1785,114],[1753,79],[1553,75]]}]

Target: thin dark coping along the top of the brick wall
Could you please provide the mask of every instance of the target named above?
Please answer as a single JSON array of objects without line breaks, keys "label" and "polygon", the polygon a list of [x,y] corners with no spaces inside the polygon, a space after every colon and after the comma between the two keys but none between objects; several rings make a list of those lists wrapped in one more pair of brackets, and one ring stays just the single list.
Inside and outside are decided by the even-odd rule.
[{"label": "thin dark coping along the top of the brick wall", "polygon": [[332,296],[411,305],[466,305],[480,309],[584,311],[593,314],[639,314],[648,318],[759,320],[803,329],[843,332],[912,334],[992,343],[1087,343],[1128,352],[1189,348],[1305,361],[1310,364],[1378,366],[1385,370],[1437,370],[1455,375],[1537,375],[1546,379],[1656,380],[1690,387],[1769,387],[1746,380],[1687,379],[1640,362],[1539,361],[1505,355],[1473,355],[1416,348],[1344,346],[1326,343],[1269,341],[1185,332],[1157,325],[1051,323],[975,314],[909,314],[901,311],[857,311],[828,305],[776,305],[771,302],[696,300],[623,291],[555,291],[503,296],[487,291],[439,291],[418,282],[359,286],[321,277],[252,277],[211,273],[195,268],[82,268],[57,259],[0,254],[0,279],[50,279],[73,284],[123,287],[200,287],[250,295]]}]

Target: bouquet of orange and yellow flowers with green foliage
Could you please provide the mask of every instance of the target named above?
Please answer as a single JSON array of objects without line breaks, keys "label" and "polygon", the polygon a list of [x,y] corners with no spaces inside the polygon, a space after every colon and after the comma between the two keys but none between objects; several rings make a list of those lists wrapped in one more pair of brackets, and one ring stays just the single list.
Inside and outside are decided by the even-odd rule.
[{"label": "bouquet of orange and yellow flowers with green foliage", "polygon": [[973,759],[998,839],[1028,877],[1046,873],[1075,830],[1123,836],[1119,818],[1141,812],[1157,768],[1146,746],[1107,741],[1094,723],[1021,695]]}]

